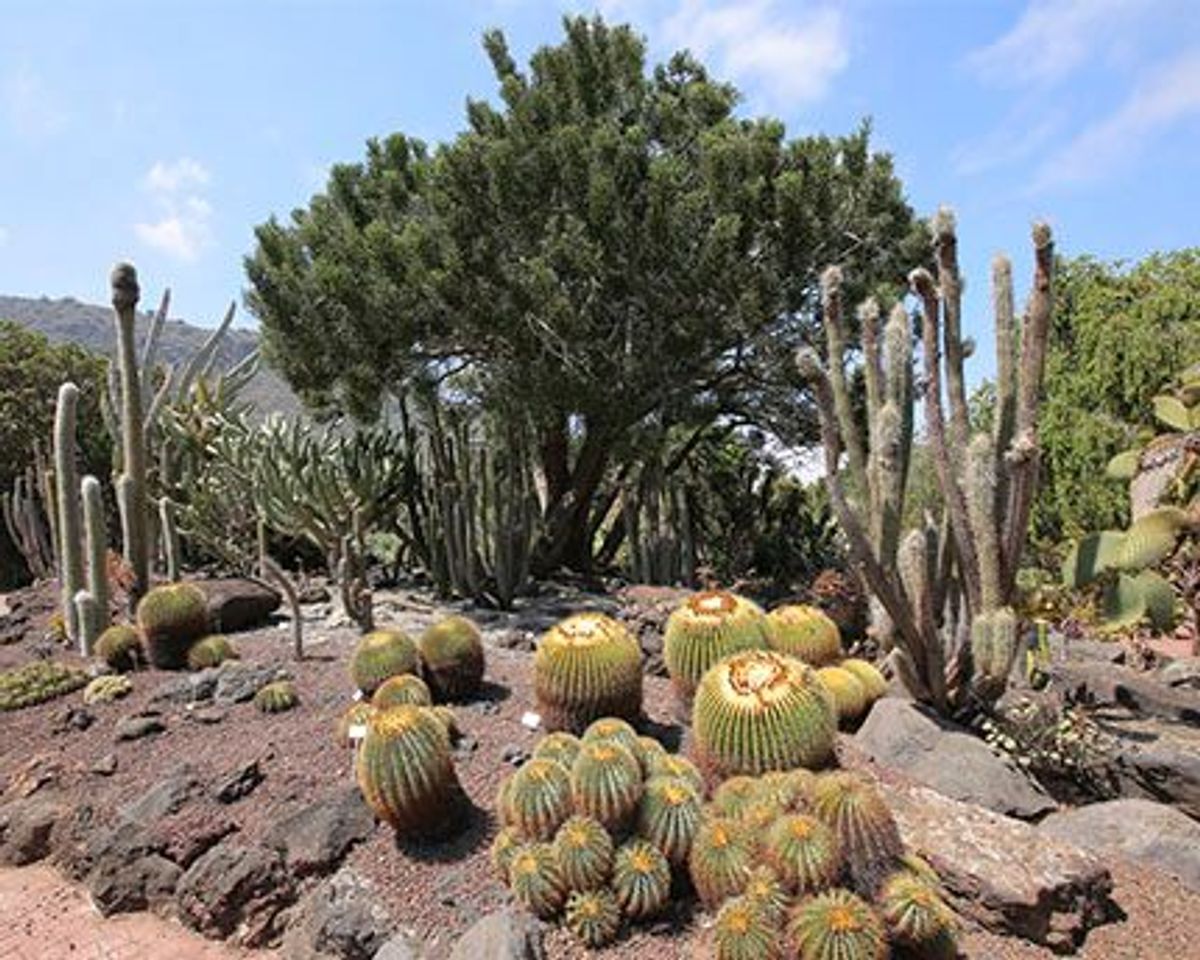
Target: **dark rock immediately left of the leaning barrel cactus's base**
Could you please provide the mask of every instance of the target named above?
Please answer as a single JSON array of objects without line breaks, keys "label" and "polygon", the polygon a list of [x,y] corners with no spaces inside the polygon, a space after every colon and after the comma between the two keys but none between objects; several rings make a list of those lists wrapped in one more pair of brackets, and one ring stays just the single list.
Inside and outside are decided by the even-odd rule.
[{"label": "dark rock immediately left of the leaning barrel cactus's base", "polygon": [[266,846],[280,851],[295,876],[329,874],[374,830],[374,815],[356,787],[346,787],[278,821]]}]

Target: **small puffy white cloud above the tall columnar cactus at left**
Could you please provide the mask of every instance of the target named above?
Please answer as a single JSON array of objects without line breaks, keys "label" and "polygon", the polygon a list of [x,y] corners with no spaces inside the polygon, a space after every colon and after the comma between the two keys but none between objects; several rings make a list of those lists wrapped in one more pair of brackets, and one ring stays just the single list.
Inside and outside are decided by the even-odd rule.
[{"label": "small puffy white cloud above the tall columnar cactus at left", "polygon": [[191,157],[156,162],[143,178],[157,218],[133,224],[138,239],[179,260],[194,260],[212,242],[212,205],[202,196],[209,172]]}]

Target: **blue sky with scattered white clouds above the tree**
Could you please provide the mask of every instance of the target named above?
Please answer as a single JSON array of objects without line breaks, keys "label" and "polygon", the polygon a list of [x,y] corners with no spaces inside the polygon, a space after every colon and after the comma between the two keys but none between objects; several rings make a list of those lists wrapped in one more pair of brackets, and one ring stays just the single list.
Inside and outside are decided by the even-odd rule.
[{"label": "blue sky with scattered white clouds above the tree", "polygon": [[[607,0],[658,61],[689,47],[792,136],[874,120],[913,206],[959,215],[968,328],[988,263],[1028,275],[1028,223],[1106,259],[1200,242],[1195,0]],[[0,0],[0,293],[107,300],[118,258],[148,300],[211,325],[241,300],[252,229],[367,137],[454,136],[560,36],[552,0]],[[253,320],[240,313],[242,324]],[[990,349],[976,376],[986,373]]]}]

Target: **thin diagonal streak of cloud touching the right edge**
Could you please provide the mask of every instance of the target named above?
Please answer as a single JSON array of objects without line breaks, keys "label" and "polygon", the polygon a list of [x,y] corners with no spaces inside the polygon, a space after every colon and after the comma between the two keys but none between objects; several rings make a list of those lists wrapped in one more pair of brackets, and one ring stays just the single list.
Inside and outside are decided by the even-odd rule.
[{"label": "thin diagonal streak of cloud touching the right edge", "polygon": [[1085,127],[1039,169],[1039,187],[1102,179],[1133,160],[1152,136],[1200,115],[1200,48],[1152,71],[1104,120]]}]

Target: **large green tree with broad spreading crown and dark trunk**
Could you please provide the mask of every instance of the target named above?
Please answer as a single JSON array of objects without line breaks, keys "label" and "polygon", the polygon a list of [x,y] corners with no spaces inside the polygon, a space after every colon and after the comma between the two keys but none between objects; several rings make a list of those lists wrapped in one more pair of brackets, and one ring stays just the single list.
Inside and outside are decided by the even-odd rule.
[{"label": "large green tree with broad spreading crown and dark trunk", "polygon": [[247,258],[268,356],[311,403],[370,418],[452,378],[528,424],[542,569],[588,566],[616,478],[671,427],[810,437],[790,361],[817,271],[899,284],[923,248],[865,126],[787,142],[691,56],[648,72],[629,28],[564,25],[528,71],[487,34],[498,103],[432,152],[371,142]]}]

